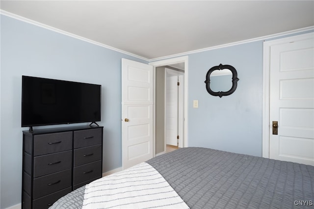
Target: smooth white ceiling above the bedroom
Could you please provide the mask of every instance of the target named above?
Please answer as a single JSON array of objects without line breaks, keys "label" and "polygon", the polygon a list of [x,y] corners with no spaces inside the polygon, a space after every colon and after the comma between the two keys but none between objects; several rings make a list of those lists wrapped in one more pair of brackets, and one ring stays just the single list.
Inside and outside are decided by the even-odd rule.
[{"label": "smooth white ceiling above the bedroom", "polygon": [[313,0],[1,0],[0,8],[148,60],[314,26]]}]

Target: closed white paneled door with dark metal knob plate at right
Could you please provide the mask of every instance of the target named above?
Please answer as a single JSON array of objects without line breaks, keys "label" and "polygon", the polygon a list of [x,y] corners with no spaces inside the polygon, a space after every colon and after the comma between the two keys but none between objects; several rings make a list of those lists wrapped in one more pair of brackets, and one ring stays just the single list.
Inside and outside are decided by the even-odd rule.
[{"label": "closed white paneled door with dark metal knob plate at right", "polygon": [[313,35],[270,47],[269,102],[269,158],[314,165]]}]

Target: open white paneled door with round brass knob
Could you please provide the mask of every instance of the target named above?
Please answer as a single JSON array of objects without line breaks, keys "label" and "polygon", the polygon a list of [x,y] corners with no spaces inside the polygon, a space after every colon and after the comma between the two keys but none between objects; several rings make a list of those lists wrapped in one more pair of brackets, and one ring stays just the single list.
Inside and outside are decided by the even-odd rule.
[{"label": "open white paneled door with round brass knob", "polygon": [[122,166],[153,157],[153,66],[122,59]]}]

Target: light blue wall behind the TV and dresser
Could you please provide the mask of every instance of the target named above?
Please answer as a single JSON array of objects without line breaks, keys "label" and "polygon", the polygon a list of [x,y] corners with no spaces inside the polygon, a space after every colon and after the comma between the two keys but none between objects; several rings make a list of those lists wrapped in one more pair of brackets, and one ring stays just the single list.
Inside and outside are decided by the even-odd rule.
[{"label": "light blue wall behind the TV and dresser", "polygon": [[121,58],[147,63],[1,15],[1,209],[21,203],[22,75],[101,84],[103,172],[122,166]]}]

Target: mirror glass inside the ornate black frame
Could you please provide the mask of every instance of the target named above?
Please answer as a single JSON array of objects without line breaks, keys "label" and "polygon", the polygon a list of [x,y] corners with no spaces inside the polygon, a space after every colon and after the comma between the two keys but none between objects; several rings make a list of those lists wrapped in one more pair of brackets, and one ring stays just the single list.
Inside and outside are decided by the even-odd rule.
[{"label": "mirror glass inside the ornate black frame", "polygon": [[209,79],[209,86],[213,92],[227,92],[232,87],[232,72],[229,69],[214,70]]}]

